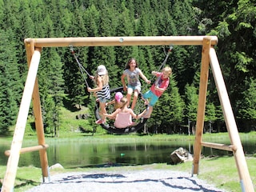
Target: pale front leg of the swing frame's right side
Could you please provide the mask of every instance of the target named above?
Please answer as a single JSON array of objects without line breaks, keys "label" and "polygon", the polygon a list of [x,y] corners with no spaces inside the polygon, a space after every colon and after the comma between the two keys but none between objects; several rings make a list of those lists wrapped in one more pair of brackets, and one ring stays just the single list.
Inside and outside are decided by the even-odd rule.
[{"label": "pale front leg of the swing frame's right side", "polygon": [[245,154],[243,152],[242,143],[238,134],[238,127],[234,119],[230,98],[227,94],[226,85],[222,76],[222,70],[219,66],[217,54],[214,48],[210,49],[210,66],[214,75],[215,84],[217,86],[218,97],[222,105],[222,111],[226,122],[226,128],[229,132],[230,142],[232,145],[237,147],[237,150],[235,150],[233,154],[236,166],[238,168],[242,191],[252,192],[254,191],[254,186],[250,179]]}]

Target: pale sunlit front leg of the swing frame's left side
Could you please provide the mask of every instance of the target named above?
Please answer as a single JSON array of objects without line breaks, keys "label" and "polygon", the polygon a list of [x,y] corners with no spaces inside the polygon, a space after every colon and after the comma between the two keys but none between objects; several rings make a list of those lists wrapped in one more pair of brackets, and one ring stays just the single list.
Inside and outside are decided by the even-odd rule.
[{"label": "pale sunlit front leg of the swing frame's left side", "polygon": [[10,157],[8,158],[6,174],[2,183],[2,192],[9,192],[14,190],[14,182],[17,174],[20,150],[22,148],[26,119],[30,109],[32,92],[34,90],[34,82],[38,72],[40,55],[40,51],[36,50],[34,51],[33,57],[31,59],[30,69],[27,74],[26,84],[22,94],[22,102],[18,111],[14,137],[10,147]]}]

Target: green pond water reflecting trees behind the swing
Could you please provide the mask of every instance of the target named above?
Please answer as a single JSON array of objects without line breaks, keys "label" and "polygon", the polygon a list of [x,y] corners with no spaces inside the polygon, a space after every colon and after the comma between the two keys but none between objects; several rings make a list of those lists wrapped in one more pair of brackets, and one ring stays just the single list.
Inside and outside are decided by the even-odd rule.
[{"label": "green pond water reflecting trees behind the swing", "polygon": [[[86,166],[120,166],[142,165],[151,163],[170,163],[170,154],[183,147],[193,154],[194,142],[85,142],[84,140],[70,140],[66,142],[46,142],[49,144],[47,158],[49,166],[60,163],[65,168]],[[256,142],[243,142],[246,154],[255,153]],[[25,143],[25,146],[34,146],[35,143]],[[5,150],[10,150],[10,144],[0,145],[0,165],[6,166],[8,158],[4,155]],[[226,150],[215,150],[202,147],[202,154],[226,155],[232,154]],[[18,166],[40,166],[38,151],[21,154]]]}]

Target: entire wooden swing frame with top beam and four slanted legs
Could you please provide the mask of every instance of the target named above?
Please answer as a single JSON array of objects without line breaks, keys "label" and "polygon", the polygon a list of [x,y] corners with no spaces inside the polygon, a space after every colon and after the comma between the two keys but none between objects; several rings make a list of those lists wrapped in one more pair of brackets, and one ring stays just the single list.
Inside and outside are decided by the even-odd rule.
[{"label": "entire wooden swing frame with top beam and four slanted legs", "polygon": [[[238,134],[238,128],[234,120],[234,114],[230,105],[230,99],[226,91],[226,85],[222,77],[217,54],[214,45],[218,43],[216,36],[143,36],[143,37],[86,37],[86,38],[26,38],[26,57],[29,66],[26,84],[22,94],[22,101],[18,111],[18,118],[14,130],[13,141],[10,150],[6,151],[9,156],[6,174],[2,183],[2,192],[13,191],[14,182],[18,169],[18,161],[21,153],[39,150],[42,166],[42,178],[50,178],[49,166],[46,154],[48,145],[45,141],[41,103],[38,90],[38,65],[43,47],[58,46],[202,46],[202,64],[199,85],[198,114],[196,122],[196,134],[194,141],[194,162],[192,175],[198,174],[199,160],[202,146],[212,147],[219,150],[233,151],[240,185],[242,191],[253,192],[254,186],[246,164],[245,154]],[[224,144],[202,142],[203,125],[206,110],[206,91],[209,76],[209,67],[214,75],[214,82],[217,86],[218,97],[222,105],[226,127],[229,132],[230,146]],[[22,148],[22,141],[25,133],[26,119],[30,109],[30,102],[33,102],[35,126],[38,137],[38,146]]]}]

